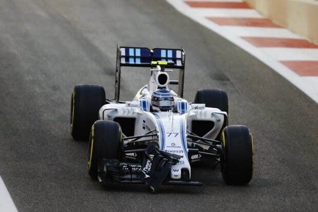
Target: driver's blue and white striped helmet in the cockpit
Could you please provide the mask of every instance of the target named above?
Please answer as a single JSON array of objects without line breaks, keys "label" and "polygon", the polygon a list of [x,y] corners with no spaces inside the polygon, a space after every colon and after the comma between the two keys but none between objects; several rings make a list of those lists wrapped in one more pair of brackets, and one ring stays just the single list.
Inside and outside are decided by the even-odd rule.
[{"label": "driver's blue and white striped helmet in the cockpit", "polygon": [[160,111],[168,111],[173,107],[174,98],[169,90],[158,89],[151,95],[151,104],[154,109],[158,108]]}]

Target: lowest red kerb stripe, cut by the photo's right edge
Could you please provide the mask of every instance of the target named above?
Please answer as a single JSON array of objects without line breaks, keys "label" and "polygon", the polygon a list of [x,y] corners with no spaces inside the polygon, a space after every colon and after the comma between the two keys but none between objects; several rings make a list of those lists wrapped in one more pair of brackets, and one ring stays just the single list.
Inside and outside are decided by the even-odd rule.
[{"label": "lowest red kerb stripe, cut by the photo's right edge", "polygon": [[300,76],[318,76],[318,61],[280,61]]}]

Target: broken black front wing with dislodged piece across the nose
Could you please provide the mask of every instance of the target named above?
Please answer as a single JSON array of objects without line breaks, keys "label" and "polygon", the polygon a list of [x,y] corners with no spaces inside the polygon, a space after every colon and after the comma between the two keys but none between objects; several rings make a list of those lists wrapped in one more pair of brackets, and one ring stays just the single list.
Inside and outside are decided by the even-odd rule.
[{"label": "broken black front wing with dislodged piece across the nose", "polygon": [[149,143],[142,163],[128,163],[119,160],[100,159],[98,161],[98,181],[101,183],[135,183],[146,184],[148,189],[155,192],[161,184],[197,185],[201,182],[171,180],[167,177],[172,165],[181,156],[158,150],[155,144]]}]

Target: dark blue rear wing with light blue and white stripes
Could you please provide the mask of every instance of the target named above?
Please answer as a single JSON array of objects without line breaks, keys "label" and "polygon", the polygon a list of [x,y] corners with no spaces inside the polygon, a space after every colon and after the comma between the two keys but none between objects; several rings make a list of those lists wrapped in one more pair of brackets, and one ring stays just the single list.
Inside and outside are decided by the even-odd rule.
[{"label": "dark blue rear wing with light blue and white stripes", "polygon": [[115,100],[119,101],[121,87],[121,67],[153,67],[151,61],[173,62],[166,68],[180,69],[178,95],[183,97],[184,70],[186,53],[183,49],[148,49],[144,47],[117,46]]}]

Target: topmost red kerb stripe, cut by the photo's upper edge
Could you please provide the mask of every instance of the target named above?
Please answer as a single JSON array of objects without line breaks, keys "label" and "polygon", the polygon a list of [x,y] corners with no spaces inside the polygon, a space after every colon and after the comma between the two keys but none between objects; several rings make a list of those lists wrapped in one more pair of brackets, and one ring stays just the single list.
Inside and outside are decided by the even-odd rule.
[{"label": "topmost red kerb stripe, cut by the photo's upper edge", "polygon": [[185,1],[190,7],[201,8],[235,8],[235,9],[250,9],[245,2],[190,2]]}]

